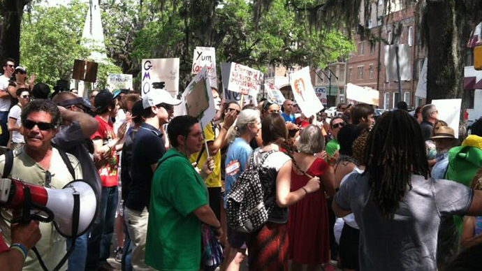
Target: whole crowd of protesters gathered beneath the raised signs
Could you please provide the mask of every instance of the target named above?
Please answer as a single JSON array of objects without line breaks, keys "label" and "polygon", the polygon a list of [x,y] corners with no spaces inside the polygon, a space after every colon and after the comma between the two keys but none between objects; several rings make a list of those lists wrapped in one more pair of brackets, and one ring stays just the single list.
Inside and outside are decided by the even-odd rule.
[{"label": "whole crowd of protesters gathered beneath the raised signs", "polygon": [[[375,117],[371,105],[305,116],[295,103],[226,103],[204,127],[174,116],[163,89],[50,90],[13,59],[0,73],[3,177],[60,189],[84,179],[98,213],[60,270],[481,270],[482,120],[461,142],[435,105]],[[465,137],[465,136],[464,136]],[[269,206],[249,233],[228,225],[228,193],[256,168]],[[52,223],[10,224],[2,270],[52,270],[70,240]],[[112,244],[112,236],[117,242]],[[223,249],[206,265],[205,238]],[[115,248],[115,249],[112,249]],[[244,263],[245,262],[245,263]]]}]

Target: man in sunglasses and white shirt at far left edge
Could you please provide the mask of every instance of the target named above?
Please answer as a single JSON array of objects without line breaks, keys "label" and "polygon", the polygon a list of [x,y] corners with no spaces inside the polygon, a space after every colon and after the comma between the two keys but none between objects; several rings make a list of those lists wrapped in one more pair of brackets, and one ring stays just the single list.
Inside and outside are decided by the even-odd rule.
[{"label": "man in sunglasses and white shirt at far left edge", "polygon": [[0,75],[0,146],[6,146],[10,139],[7,122],[11,94],[8,93],[8,85],[10,78],[12,78],[13,72],[15,71],[15,60],[11,58],[3,59],[1,66],[3,69],[3,75]]}]

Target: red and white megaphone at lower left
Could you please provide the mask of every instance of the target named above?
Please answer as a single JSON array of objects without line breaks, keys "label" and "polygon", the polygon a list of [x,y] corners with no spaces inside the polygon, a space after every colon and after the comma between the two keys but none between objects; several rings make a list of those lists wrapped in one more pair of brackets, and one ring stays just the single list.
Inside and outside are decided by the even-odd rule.
[{"label": "red and white megaphone at lower left", "polygon": [[[82,180],[69,182],[63,189],[50,189],[14,178],[0,179],[0,207],[12,209],[14,213],[22,210],[22,216],[28,219],[53,220],[57,231],[68,238],[73,236],[75,226],[75,236],[84,234],[92,226],[97,198],[92,186]],[[47,217],[38,215],[38,210]],[[37,214],[31,215],[34,211]]]}]

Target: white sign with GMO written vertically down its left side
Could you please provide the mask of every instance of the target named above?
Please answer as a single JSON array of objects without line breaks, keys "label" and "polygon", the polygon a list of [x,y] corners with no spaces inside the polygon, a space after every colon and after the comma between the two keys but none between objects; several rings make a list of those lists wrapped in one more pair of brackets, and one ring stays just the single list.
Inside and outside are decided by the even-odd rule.
[{"label": "white sign with GMO written vertically down its left side", "polygon": [[179,59],[143,59],[142,66],[143,91],[148,94],[153,89],[152,84],[164,82],[164,89],[171,95],[179,93]]}]

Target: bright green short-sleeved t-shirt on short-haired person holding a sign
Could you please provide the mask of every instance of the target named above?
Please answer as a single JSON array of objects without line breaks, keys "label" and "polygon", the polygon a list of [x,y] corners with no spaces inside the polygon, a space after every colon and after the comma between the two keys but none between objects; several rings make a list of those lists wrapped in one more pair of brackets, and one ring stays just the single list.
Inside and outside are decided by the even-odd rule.
[{"label": "bright green short-sleeved t-shirt on short-haired person holding a sign", "polygon": [[207,188],[177,150],[169,149],[161,161],[152,177],[145,263],[157,270],[199,270],[201,222],[193,211],[207,205]]}]

